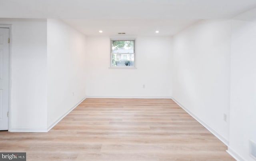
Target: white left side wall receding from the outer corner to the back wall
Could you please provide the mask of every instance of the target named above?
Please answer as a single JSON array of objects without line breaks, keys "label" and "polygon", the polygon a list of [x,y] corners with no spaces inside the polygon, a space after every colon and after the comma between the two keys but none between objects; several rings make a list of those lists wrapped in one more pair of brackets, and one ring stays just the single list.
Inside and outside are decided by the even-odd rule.
[{"label": "white left side wall receding from the outer corner to the back wall", "polygon": [[47,20],[48,129],[86,97],[85,54],[83,34],[60,20]]}]

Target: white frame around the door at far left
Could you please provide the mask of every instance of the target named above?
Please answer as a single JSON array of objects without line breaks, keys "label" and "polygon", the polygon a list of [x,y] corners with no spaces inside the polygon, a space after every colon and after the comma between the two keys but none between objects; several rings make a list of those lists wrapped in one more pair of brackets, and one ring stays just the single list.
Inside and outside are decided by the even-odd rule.
[{"label": "white frame around the door at far left", "polygon": [[0,28],[9,29],[9,95],[8,95],[8,131],[11,129],[11,118],[12,118],[12,109],[11,109],[11,94],[12,94],[12,25],[10,24],[0,24]]}]

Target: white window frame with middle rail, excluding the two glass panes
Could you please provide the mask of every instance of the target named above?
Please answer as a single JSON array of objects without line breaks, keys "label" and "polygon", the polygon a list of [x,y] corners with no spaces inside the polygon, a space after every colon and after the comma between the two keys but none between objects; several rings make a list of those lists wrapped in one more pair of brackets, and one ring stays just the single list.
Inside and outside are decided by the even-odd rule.
[{"label": "white window frame with middle rail, excluding the two glass panes", "polygon": [[[134,41],[133,53],[112,53],[112,42],[113,41]],[[134,54],[134,65],[133,66],[112,66],[112,54]],[[136,38],[110,38],[110,66],[109,68],[136,68]]]}]

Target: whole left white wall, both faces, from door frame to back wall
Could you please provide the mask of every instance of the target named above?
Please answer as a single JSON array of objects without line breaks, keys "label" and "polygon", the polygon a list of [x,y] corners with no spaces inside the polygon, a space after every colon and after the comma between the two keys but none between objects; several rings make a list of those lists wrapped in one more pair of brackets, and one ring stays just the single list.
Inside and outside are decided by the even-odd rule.
[{"label": "whole left white wall, both faces, from door frame to back wall", "polygon": [[12,25],[9,131],[46,131],[86,97],[85,36],[59,20],[0,24]]}]

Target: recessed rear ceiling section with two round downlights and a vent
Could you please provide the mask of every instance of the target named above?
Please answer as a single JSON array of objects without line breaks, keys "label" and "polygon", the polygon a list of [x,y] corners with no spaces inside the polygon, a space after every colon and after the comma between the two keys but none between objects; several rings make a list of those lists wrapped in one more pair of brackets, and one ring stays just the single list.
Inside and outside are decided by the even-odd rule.
[{"label": "recessed rear ceiling section with two round downlights and a vent", "polygon": [[[171,36],[198,20],[63,20],[86,35]],[[99,33],[102,30],[102,33]],[[156,30],[159,31],[156,34]]]}]

